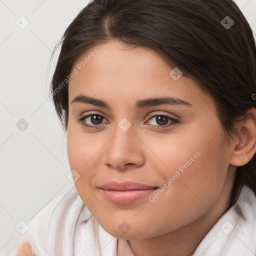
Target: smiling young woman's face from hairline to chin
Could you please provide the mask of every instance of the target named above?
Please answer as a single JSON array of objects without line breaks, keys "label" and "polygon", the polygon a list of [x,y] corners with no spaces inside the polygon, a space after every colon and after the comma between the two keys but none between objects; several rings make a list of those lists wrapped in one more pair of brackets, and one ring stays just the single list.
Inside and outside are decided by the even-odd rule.
[{"label": "smiling young woman's face from hairline to chin", "polygon": [[[96,45],[73,68],[68,160],[99,224],[116,237],[145,239],[216,221],[228,206],[234,169],[212,98],[146,47]],[[174,100],[154,101],[163,97]],[[108,198],[100,188],[108,181],[158,188],[108,191]]]}]

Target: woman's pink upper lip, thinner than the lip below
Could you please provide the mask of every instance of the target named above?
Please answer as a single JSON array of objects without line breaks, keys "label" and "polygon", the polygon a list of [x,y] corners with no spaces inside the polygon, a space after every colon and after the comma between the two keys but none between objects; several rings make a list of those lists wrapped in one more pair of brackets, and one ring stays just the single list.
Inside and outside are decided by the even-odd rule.
[{"label": "woman's pink upper lip, thinner than the lip below", "polygon": [[137,183],[132,181],[125,181],[125,182],[109,181],[101,185],[100,188],[103,188],[105,190],[125,191],[125,190],[138,190],[138,189],[153,189],[153,188],[157,188],[157,186],[147,185],[147,184],[142,184],[142,183]]}]

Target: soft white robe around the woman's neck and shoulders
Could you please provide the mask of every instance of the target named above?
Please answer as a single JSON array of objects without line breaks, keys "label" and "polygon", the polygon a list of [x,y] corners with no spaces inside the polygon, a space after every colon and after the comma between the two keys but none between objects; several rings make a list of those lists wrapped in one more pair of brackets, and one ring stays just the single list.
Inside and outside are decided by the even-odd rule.
[{"label": "soft white robe around the woman's neck and shoulders", "polygon": [[[117,256],[117,238],[88,211],[74,188],[44,206],[20,235],[36,256]],[[122,246],[127,248],[127,243]],[[17,247],[18,247],[17,246]],[[16,248],[9,256],[15,256]],[[208,231],[193,256],[255,256],[256,197],[243,186],[235,204]],[[133,254],[133,253],[132,253]],[[118,255],[119,256],[119,255]]]}]

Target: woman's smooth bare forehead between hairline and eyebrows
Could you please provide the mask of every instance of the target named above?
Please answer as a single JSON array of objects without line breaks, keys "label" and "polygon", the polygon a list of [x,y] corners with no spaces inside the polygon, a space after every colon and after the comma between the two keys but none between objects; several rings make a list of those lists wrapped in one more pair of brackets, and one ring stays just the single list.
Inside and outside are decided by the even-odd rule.
[{"label": "woman's smooth bare forehead between hairline and eyebrows", "polygon": [[214,109],[212,98],[194,80],[183,76],[174,80],[169,74],[173,67],[147,47],[131,48],[118,41],[98,44],[83,53],[73,68],[77,73],[69,81],[69,102],[78,94],[99,97],[110,104],[168,95],[195,107],[207,104]]}]

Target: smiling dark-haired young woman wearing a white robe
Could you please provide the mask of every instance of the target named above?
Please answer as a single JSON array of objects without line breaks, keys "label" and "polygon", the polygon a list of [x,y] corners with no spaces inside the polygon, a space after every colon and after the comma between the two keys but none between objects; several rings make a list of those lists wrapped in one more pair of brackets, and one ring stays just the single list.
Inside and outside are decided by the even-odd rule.
[{"label": "smiling dark-haired young woman wearing a white robe", "polygon": [[75,188],[16,255],[254,255],[255,60],[231,0],[89,2],[51,83]]}]

